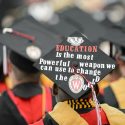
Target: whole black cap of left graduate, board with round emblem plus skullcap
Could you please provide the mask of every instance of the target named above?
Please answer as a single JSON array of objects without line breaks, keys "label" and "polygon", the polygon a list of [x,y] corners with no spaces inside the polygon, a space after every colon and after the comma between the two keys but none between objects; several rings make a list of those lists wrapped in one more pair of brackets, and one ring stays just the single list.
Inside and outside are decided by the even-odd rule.
[{"label": "whole black cap of left graduate, board with round emblem plus skullcap", "polygon": [[10,60],[25,72],[37,72],[32,65],[58,43],[58,37],[28,20],[21,20],[12,28],[4,28],[0,43],[10,50]]}]

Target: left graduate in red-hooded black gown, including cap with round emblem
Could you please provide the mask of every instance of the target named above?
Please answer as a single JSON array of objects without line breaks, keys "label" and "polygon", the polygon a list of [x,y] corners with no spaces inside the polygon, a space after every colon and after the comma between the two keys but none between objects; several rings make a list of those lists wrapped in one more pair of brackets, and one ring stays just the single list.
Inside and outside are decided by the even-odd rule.
[{"label": "left graduate in red-hooded black gown, including cap with round emblem", "polygon": [[3,29],[0,43],[8,50],[8,74],[13,88],[0,97],[0,125],[43,125],[41,73],[33,63],[50,51],[53,41],[58,39],[27,20]]}]

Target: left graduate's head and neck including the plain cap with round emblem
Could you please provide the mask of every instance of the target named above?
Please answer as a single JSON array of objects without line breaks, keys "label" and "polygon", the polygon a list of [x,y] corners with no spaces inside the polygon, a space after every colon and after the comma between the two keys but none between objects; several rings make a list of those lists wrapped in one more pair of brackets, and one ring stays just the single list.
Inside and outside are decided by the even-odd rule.
[{"label": "left graduate's head and neck including the plain cap with round emblem", "polygon": [[21,19],[0,33],[0,43],[10,50],[9,75],[19,82],[38,81],[40,69],[35,68],[34,63],[51,50],[53,41],[59,41],[53,33],[32,21]]}]

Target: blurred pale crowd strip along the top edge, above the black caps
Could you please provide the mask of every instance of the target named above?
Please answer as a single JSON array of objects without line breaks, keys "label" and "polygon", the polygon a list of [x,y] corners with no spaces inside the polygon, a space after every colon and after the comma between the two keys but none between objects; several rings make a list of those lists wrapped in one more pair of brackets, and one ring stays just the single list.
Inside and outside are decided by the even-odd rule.
[{"label": "blurred pale crowd strip along the top edge, above the black caps", "polygon": [[125,17],[124,0],[0,0],[0,26],[32,16],[41,23],[58,23],[58,13],[77,7],[105,25],[120,25]]}]

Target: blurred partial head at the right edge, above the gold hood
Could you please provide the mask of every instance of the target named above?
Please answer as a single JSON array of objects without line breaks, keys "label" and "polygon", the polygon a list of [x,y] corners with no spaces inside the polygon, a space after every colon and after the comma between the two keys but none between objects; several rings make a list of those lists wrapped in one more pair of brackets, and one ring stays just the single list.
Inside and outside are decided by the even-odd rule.
[{"label": "blurred partial head at the right edge, above the gold hood", "polygon": [[122,76],[125,76],[125,47],[119,47],[116,59]]}]

